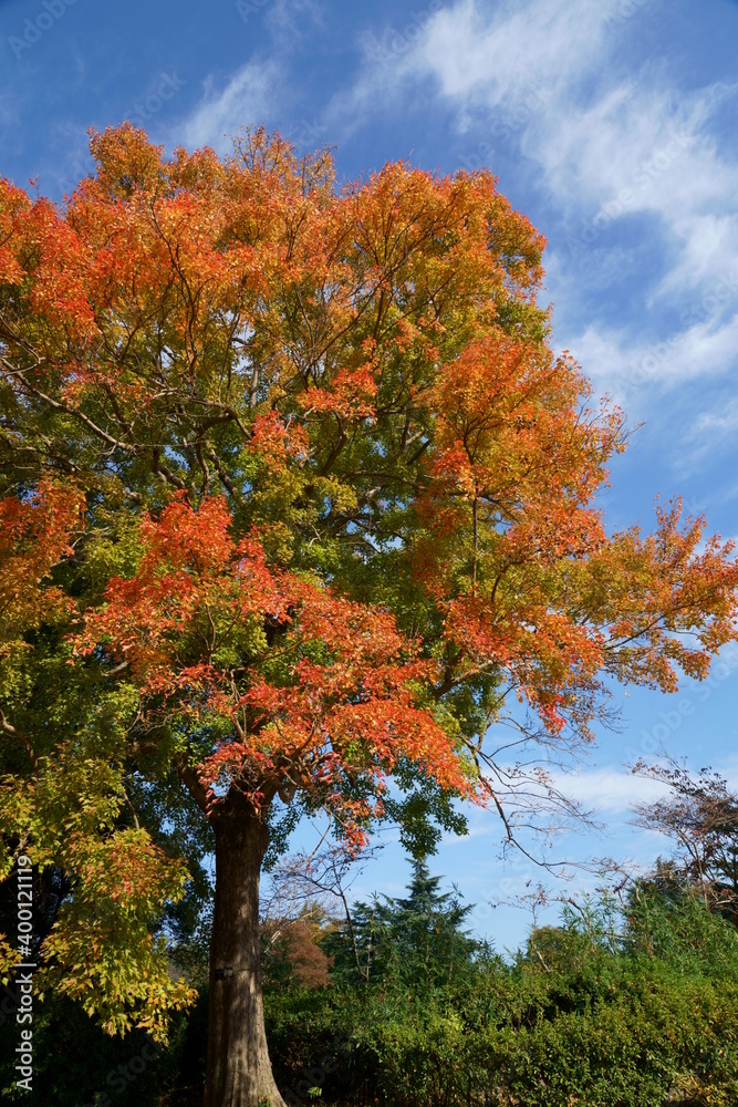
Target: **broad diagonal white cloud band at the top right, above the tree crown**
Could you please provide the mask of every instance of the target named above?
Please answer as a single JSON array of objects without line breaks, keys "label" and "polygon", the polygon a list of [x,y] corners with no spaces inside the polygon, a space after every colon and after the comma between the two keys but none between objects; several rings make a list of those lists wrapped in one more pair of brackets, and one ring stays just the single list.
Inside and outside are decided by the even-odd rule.
[{"label": "broad diagonal white cloud band at the top right, above the tree crown", "polygon": [[738,246],[738,166],[703,130],[736,86],[685,95],[663,65],[620,77],[609,64],[617,41],[606,30],[600,3],[590,0],[530,0],[492,14],[464,0],[434,18],[414,65],[435,76],[464,125],[470,113],[481,124],[544,89],[541,110],[520,128],[520,148],[559,214],[586,221],[604,208],[604,224],[647,213],[676,252],[658,292],[697,287],[729,266]]}]

